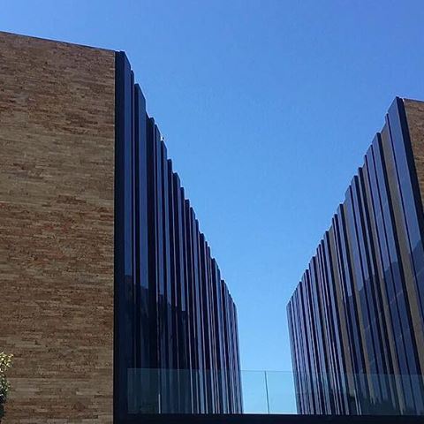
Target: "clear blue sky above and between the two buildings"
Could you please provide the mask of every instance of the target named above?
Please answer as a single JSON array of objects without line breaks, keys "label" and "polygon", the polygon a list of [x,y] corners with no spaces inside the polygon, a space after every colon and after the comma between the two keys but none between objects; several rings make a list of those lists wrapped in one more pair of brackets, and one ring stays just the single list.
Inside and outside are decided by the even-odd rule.
[{"label": "clear blue sky above and between the two buildings", "polygon": [[286,303],[390,102],[424,100],[422,0],[0,6],[1,30],[125,50],[237,303],[243,368],[291,370]]}]

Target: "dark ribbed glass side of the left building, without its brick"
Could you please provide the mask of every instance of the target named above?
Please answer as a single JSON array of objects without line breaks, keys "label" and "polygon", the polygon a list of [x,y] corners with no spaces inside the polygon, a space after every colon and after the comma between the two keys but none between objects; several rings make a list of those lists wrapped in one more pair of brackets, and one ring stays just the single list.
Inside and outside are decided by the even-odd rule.
[{"label": "dark ribbed glass side of the left building, without its brick", "polygon": [[234,301],[124,53],[116,72],[115,416],[241,412]]}]

